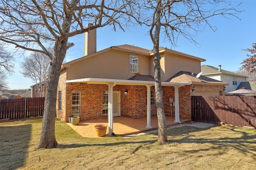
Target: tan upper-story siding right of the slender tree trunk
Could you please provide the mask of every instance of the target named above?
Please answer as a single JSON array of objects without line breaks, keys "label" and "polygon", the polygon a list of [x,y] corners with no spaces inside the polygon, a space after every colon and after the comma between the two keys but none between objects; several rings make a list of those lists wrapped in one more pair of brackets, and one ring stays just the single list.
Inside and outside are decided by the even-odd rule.
[{"label": "tan upper-story siding right of the slender tree trunk", "polygon": [[[177,55],[165,55],[164,57],[164,78],[162,81],[168,80],[179,71],[189,71],[198,74],[201,72],[201,63],[199,60]],[[161,72],[162,74],[162,72]],[[161,76],[162,78],[162,76]]]}]

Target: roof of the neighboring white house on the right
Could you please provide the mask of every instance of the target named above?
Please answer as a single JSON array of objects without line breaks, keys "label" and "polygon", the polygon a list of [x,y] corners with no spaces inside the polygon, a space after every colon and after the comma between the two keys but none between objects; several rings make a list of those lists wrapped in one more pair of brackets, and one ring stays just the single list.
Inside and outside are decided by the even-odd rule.
[{"label": "roof of the neighboring white house on the right", "polygon": [[234,72],[230,72],[227,70],[223,70],[221,69],[221,71],[218,71],[219,68],[216,68],[214,66],[209,66],[209,65],[202,65],[201,66],[201,71],[202,71],[202,75],[209,75],[209,74],[228,74],[228,75],[232,75],[232,76],[238,76],[238,77],[247,77],[247,76],[243,76],[241,74],[236,74]]}]

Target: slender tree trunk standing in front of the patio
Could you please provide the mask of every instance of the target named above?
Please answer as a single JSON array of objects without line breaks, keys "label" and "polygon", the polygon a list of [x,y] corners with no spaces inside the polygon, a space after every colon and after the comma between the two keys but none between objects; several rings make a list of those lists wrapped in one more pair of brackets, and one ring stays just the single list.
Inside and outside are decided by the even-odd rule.
[{"label": "slender tree trunk standing in front of the patio", "polygon": [[[160,7],[161,5],[159,5]],[[166,119],[164,113],[164,102],[163,102],[163,89],[161,84],[161,69],[160,69],[160,54],[159,54],[159,36],[160,36],[160,15],[161,11],[158,7],[156,12],[156,27],[154,31],[154,79],[155,79],[155,90],[156,90],[156,109],[158,119],[158,142],[167,142],[167,130],[166,130]]]}]

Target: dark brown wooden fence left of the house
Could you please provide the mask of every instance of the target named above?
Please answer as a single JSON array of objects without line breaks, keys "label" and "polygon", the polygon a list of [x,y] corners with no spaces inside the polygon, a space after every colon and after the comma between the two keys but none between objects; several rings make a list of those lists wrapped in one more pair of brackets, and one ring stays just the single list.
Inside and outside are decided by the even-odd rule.
[{"label": "dark brown wooden fence left of the house", "polygon": [[24,119],[43,115],[44,98],[0,100],[0,119]]}]

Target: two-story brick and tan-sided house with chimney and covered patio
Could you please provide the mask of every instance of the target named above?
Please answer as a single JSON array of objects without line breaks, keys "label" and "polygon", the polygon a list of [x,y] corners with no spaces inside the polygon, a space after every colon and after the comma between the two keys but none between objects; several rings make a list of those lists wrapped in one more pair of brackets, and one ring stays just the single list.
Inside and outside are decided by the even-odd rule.
[{"label": "two-story brick and tan-sided house with chimney and covered patio", "polygon": [[[96,29],[85,33],[84,57],[62,64],[57,94],[57,117],[68,122],[114,116],[133,118],[156,115],[154,54],[133,45],[118,45],[96,51]],[[224,95],[220,82],[205,76],[196,78],[205,59],[159,48],[163,102],[166,116],[191,119],[190,98],[196,92]],[[195,75],[196,75],[195,74]]]}]

